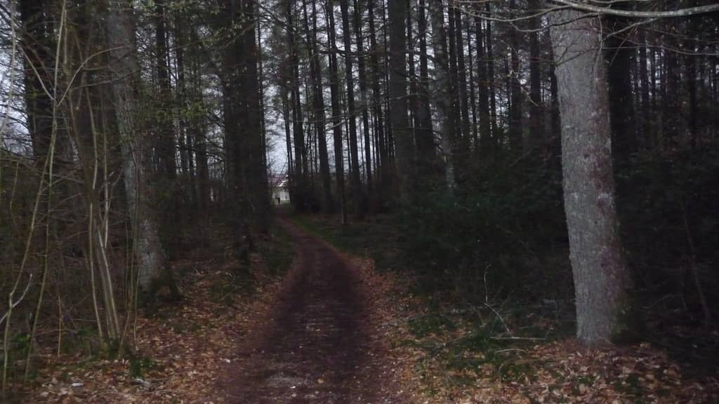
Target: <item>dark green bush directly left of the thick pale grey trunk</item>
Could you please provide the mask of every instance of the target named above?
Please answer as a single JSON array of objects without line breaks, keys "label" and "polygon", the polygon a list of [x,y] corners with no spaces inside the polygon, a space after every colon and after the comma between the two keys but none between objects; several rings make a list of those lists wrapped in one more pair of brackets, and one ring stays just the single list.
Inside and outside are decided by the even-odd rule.
[{"label": "dark green bush directly left of the thick pale grey trunk", "polygon": [[432,187],[400,214],[413,267],[470,300],[571,295],[559,172],[527,163],[469,177],[479,179],[455,192]]}]

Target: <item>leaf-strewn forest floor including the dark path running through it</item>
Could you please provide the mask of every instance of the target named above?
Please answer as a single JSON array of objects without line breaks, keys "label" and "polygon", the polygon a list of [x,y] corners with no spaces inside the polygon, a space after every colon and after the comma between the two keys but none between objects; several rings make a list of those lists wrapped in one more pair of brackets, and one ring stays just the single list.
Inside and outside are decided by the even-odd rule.
[{"label": "leaf-strewn forest floor including the dark path running through it", "polygon": [[649,344],[588,350],[558,310],[423,292],[380,221],[280,224],[249,267],[175,262],[184,298],[138,319],[132,357],[44,352],[17,402],[719,403],[716,373]]}]

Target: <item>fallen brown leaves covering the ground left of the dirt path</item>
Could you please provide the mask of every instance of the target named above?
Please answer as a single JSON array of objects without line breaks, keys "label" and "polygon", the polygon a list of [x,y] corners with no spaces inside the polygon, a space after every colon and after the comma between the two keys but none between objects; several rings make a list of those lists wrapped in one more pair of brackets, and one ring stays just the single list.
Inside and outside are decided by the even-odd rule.
[{"label": "fallen brown leaves covering the ground left of the dirt path", "polygon": [[[222,289],[233,276],[229,265],[217,269],[210,262],[200,264],[203,270],[183,279],[181,306],[161,307],[162,318],[138,319],[135,359],[88,362],[84,357],[48,355],[42,382],[26,392],[27,402],[223,403],[217,380],[237,353],[251,306],[247,295]],[[261,265],[253,270],[262,270]],[[256,278],[269,280],[262,274]],[[273,285],[264,285],[253,299],[272,293]],[[218,298],[213,294],[217,290],[232,295]],[[227,304],[228,298],[232,304]]]}]

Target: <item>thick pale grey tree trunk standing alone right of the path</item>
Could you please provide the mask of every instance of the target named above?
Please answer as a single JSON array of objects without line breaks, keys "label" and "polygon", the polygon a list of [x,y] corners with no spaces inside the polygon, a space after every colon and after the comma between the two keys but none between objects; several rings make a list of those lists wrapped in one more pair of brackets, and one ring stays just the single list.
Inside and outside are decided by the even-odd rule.
[{"label": "thick pale grey tree trunk standing alone right of the path", "polygon": [[631,277],[615,210],[609,95],[596,34],[601,22],[576,11],[553,18],[577,337],[588,345],[610,343],[630,326]]}]

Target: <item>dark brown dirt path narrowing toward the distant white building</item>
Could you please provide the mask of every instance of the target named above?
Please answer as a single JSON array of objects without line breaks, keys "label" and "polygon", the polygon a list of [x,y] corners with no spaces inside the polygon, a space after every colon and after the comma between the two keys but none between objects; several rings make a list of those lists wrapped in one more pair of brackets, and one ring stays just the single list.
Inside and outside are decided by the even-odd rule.
[{"label": "dark brown dirt path narrowing toward the distant white building", "polygon": [[296,243],[292,269],[257,313],[229,366],[228,403],[407,403],[356,266],[283,220]]}]

